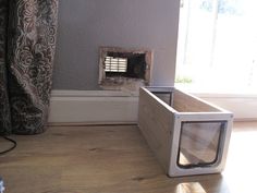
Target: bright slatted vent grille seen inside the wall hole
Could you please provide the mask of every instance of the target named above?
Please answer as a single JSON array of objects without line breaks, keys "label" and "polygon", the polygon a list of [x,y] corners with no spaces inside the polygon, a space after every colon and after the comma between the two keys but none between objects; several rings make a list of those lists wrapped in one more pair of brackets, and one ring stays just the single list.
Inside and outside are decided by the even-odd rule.
[{"label": "bright slatted vent grille seen inside the wall hole", "polygon": [[106,72],[126,72],[127,59],[126,58],[105,58],[105,71]]}]

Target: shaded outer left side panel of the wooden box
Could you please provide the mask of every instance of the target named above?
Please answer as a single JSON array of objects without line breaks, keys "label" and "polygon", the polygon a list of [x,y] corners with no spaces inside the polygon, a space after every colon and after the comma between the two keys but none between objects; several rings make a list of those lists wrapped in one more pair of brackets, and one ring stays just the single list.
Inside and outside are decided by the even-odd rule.
[{"label": "shaded outer left side panel of the wooden box", "polygon": [[144,89],[139,93],[138,125],[159,162],[168,172],[173,114]]}]

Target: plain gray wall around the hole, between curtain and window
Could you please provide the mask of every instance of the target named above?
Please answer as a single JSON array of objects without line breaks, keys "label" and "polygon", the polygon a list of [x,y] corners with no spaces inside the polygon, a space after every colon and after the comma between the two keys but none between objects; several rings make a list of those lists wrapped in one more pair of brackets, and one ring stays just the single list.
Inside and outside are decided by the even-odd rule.
[{"label": "plain gray wall around the hole, between curtain and window", "polygon": [[151,85],[173,85],[179,0],[60,0],[53,89],[99,89],[100,46],[154,50]]}]

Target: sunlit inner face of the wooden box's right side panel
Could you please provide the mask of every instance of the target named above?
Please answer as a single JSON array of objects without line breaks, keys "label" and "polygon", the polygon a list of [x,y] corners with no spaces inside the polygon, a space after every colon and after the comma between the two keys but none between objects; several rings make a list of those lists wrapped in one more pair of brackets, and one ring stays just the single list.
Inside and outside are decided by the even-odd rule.
[{"label": "sunlit inner face of the wooden box's right side panel", "polygon": [[180,112],[219,112],[220,109],[178,89],[173,94],[173,108]]}]

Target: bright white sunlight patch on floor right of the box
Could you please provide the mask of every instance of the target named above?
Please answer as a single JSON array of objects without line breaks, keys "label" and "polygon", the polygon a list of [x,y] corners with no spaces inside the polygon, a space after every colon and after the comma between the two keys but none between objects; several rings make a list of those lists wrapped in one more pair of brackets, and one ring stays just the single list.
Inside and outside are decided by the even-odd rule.
[{"label": "bright white sunlight patch on floor right of the box", "polygon": [[222,173],[231,192],[253,192],[257,173],[256,146],[257,130],[254,124],[249,123],[244,131],[234,129],[230,143],[233,148],[229,149],[225,170]]}]

